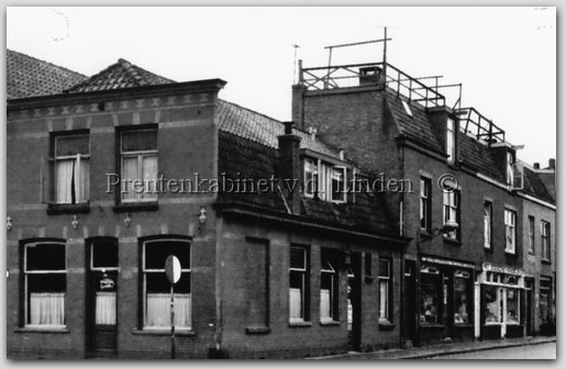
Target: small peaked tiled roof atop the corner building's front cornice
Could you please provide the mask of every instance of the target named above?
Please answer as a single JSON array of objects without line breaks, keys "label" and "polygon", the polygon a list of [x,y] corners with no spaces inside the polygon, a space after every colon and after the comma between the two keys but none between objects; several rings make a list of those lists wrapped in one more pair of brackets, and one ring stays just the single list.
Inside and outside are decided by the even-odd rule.
[{"label": "small peaked tiled roof atop the corner building's front cornice", "polygon": [[118,90],[129,87],[167,83],[175,83],[175,81],[140,68],[125,59],[118,59],[116,63],[108,68],[73,86],[67,92]]}]

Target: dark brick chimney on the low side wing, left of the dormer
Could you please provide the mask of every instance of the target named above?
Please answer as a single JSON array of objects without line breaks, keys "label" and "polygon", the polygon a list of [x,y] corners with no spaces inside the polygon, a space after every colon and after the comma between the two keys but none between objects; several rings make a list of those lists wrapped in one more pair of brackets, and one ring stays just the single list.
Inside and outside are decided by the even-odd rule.
[{"label": "dark brick chimney on the low side wing, left of the dormer", "polygon": [[279,141],[279,183],[282,195],[292,214],[301,211],[301,137],[292,134],[293,122],[285,122],[285,134],[278,136]]}]

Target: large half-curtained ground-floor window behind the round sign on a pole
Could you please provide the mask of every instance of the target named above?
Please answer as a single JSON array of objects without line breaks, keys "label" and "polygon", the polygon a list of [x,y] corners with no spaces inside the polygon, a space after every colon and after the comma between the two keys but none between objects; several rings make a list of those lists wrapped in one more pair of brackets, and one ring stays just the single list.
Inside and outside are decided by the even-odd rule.
[{"label": "large half-curtained ground-floor window behind the round sign on a pole", "polygon": [[175,327],[191,327],[191,255],[190,243],[184,239],[156,239],[143,243],[143,327],[170,327],[170,283],[165,276],[169,255],[179,259],[181,277],[174,288]]}]

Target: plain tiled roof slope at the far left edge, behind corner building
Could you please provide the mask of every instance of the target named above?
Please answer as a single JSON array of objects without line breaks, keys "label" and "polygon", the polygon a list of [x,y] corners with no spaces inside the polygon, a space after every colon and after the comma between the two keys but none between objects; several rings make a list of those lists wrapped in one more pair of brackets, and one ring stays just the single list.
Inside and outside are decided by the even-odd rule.
[{"label": "plain tiled roof slope at the far left edge, behind corner building", "polygon": [[62,93],[87,76],[7,49],[7,98],[21,99]]}]

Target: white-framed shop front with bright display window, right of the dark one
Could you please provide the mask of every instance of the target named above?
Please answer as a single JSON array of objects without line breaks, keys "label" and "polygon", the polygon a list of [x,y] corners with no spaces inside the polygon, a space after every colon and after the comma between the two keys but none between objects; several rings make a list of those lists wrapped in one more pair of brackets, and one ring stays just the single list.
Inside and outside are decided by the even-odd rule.
[{"label": "white-framed shop front with bright display window, right of the dark one", "polygon": [[524,336],[528,291],[518,268],[482,264],[479,283],[479,333],[482,339]]}]

